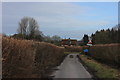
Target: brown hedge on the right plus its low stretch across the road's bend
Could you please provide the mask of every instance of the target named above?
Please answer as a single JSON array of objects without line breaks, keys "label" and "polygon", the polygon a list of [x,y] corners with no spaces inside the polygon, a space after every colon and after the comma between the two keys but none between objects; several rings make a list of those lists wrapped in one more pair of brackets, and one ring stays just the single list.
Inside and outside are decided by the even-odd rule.
[{"label": "brown hedge on the right plus its low stretch across the road's bend", "polygon": [[93,59],[100,61],[102,63],[120,67],[120,44],[99,44],[93,46],[65,46],[66,52],[81,52],[84,54],[83,50],[88,49],[88,56]]}]

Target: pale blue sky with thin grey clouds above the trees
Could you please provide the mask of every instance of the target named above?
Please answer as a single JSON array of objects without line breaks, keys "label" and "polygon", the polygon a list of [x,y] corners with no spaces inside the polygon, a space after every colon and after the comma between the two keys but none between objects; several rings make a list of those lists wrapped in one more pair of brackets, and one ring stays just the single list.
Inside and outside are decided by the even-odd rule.
[{"label": "pale blue sky with thin grey clouds above the trees", "polygon": [[118,22],[117,2],[4,2],[2,10],[3,33],[8,35],[17,33],[24,16],[36,19],[45,35],[74,39]]}]

